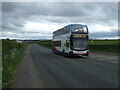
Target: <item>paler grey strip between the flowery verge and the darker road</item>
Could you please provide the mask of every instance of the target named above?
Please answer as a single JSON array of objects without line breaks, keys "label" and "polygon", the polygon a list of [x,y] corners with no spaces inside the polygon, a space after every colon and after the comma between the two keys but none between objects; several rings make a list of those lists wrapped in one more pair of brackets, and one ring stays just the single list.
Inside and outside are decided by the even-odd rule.
[{"label": "paler grey strip between the flowery verge and the darker road", "polygon": [[30,46],[26,49],[22,63],[15,75],[15,82],[12,88],[42,88],[39,71],[37,71],[31,58]]}]

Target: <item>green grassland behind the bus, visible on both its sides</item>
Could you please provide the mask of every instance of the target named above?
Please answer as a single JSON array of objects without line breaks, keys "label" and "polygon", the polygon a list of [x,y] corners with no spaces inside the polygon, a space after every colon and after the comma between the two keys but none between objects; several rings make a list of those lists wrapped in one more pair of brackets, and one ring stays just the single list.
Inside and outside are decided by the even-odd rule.
[{"label": "green grassland behind the bus, visible on both its sides", "polygon": [[[110,52],[120,53],[119,49],[120,40],[89,40],[90,52]],[[51,48],[51,40],[37,41],[39,45]]]}]

